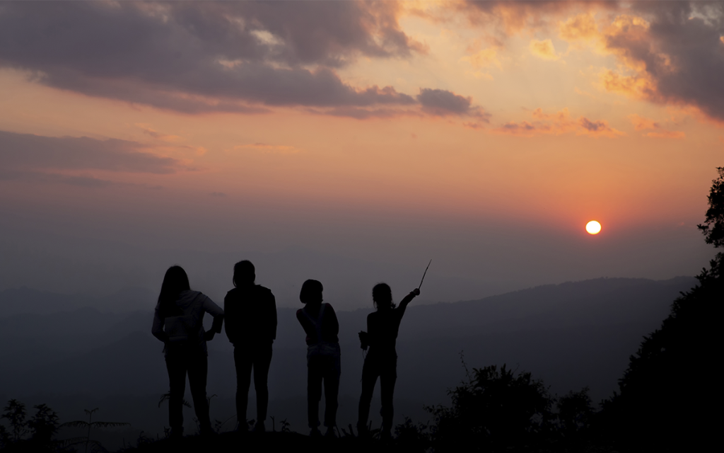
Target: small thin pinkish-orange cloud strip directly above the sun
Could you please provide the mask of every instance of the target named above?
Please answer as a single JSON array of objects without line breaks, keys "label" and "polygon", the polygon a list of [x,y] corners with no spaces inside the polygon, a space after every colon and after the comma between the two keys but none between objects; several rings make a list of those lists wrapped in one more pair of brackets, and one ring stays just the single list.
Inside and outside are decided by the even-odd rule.
[{"label": "small thin pinkish-orange cloud strip directly above the sun", "polygon": [[576,133],[579,136],[590,136],[594,138],[626,135],[620,130],[612,128],[605,120],[589,120],[586,117],[578,117],[574,120],[568,109],[553,114],[544,113],[542,109],[535,109],[532,114],[533,121],[507,122],[492,129],[495,133],[504,133],[514,136],[542,136],[562,135],[565,133]]}]

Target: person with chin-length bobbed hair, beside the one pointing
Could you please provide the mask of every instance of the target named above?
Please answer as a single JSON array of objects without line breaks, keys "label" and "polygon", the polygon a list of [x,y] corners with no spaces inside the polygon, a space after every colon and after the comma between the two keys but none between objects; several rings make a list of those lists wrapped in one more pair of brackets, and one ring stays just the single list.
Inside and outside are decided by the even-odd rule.
[{"label": "person with chin-length bobbed hair, beside the one pointing", "polygon": [[336,437],[337,393],[340,390],[340,323],[330,304],[322,303],[324,288],[317,280],[306,280],[299,293],[305,304],[297,311],[297,320],[307,334],[307,418],[310,436],[321,436],[319,431],[319,401],[324,381],[325,436]]}]

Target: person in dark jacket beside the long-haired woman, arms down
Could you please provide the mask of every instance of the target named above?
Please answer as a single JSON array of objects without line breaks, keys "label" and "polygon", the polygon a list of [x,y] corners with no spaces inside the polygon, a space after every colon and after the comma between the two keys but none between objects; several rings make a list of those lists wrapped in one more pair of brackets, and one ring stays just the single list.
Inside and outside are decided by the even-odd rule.
[{"label": "person in dark jacket beside the long-haired woman, arms down", "polygon": [[236,416],[240,431],[248,429],[248,405],[251,370],[256,390],[256,425],[254,431],[264,432],[269,388],[266,381],[271,364],[271,344],[277,338],[277,302],[269,288],[256,285],[254,265],[240,261],[234,265],[235,288],[224,297],[226,333],[234,344],[236,365]]}]

